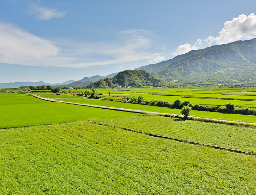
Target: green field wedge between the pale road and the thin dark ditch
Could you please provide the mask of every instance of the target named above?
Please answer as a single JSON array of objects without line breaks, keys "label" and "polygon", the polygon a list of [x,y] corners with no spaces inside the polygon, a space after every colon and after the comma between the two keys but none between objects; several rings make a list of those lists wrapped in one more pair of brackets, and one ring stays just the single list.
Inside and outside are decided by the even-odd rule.
[{"label": "green field wedge between the pale road and the thin dark ditch", "polygon": [[155,115],[97,119],[95,122],[245,152],[256,150],[256,128]]}]

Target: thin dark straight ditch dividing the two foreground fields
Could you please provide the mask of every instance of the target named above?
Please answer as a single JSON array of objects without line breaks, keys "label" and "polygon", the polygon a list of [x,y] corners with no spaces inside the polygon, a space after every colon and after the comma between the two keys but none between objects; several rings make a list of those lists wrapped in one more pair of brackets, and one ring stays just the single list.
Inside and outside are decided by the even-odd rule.
[{"label": "thin dark straight ditch dividing the two foreground fields", "polygon": [[219,147],[219,146],[202,144],[202,143],[198,143],[198,142],[194,142],[194,141],[180,140],[180,139],[166,137],[166,136],[162,136],[162,135],[149,134],[149,133],[142,132],[142,131],[136,131],[136,130],[127,129],[127,128],[124,128],[124,127],[118,127],[118,126],[105,125],[105,124],[101,124],[101,123],[97,123],[97,122],[93,122],[93,121],[87,121],[87,122],[94,123],[94,124],[97,124],[97,125],[102,125],[102,126],[108,126],[108,127],[112,127],[112,128],[119,128],[119,129],[123,129],[123,130],[127,130],[127,131],[136,132],[136,133],[139,133],[139,134],[145,134],[145,135],[148,135],[148,136],[151,136],[151,137],[164,138],[164,139],[167,139],[167,140],[174,140],[174,141],[188,143],[188,144],[192,144],[192,145],[204,146],[204,147],[207,147],[207,148],[214,148],[214,149],[218,149],[218,150],[225,150],[225,151],[228,151],[228,152],[244,154],[244,155],[248,155],[248,156],[256,156],[256,154],[254,154],[254,153],[244,152],[244,151],[241,151],[241,150],[235,150],[235,149],[230,149],[230,148],[223,148],[223,147]]}]

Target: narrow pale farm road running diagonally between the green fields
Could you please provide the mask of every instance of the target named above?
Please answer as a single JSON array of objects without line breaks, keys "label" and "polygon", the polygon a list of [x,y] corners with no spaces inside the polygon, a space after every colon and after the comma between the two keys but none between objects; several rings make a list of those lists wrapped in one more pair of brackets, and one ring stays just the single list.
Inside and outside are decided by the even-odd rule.
[{"label": "narrow pale farm road running diagonally between the green fields", "polygon": [[[39,99],[46,100],[46,101],[51,101],[51,102],[61,102],[61,103],[65,103],[65,104],[82,105],[82,106],[103,108],[103,109],[109,109],[109,110],[119,110],[119,111],[125,111],[125,112],[136,112],[136,113],[142,113],[142,114],[159,114],[159,115],[170,115],[170,116],[177,116],[178,115],[179,117],[183,117],[183,115],[179,115],[179,114],[171,114],[171,113],[163,113],[163,112],[152,112],[152,111],[135,110],[135,109],[118,108],[118,107],[101,106],[101,105],[81,104],[81,103],[55,100],[55,99],[51,99],[51,98],[43,98],[43,97],[38,96],[36,94],[31,94],[31,95],[34,96],[35,98],[39,98]],[[189,116],[188,118],[192,118],[192,116]],[[203,118],[203,117],[195,117],[195,116],[193,116],[193,118],[195,118],[195,119],[206,119],[206,120],[219,121],[219,122],[256,125],[256,123],[248,123],[248,122],[240,122],[240,121],[232,121],[232,120],[211,119],[211,118]]]}]

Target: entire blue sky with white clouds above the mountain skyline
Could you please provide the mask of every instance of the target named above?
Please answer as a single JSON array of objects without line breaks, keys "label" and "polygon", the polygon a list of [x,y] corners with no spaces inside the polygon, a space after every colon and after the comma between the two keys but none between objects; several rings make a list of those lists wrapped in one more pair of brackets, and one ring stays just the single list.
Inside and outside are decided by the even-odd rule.
[{"label": "entire blue sky with white clouds above the mountain skyline", "polygon": [[256,37],[256,1],[0,0],[0,83],[62,83]]}]

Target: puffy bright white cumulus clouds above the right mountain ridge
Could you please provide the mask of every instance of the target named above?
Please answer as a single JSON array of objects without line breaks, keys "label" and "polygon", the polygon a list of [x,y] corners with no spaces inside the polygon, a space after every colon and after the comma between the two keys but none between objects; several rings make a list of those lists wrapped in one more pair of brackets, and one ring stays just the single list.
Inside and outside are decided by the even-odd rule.
[{"label": "puffy bright white cumulus clouds above the right mountain ridge", "polygon": [[212,44],[225,44],[237,40],[252,39],[256,37],[256,15],[251,13],[246,16],[239,15],[224,23],[224,28],[219,32],[219,36],[208,36],[206,39],[198,39],[193,46],[188,43],[177,47],[173,55],[185,54],[191,50],[211,46]]}]

